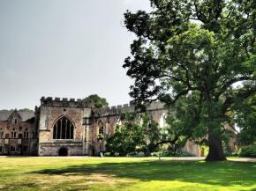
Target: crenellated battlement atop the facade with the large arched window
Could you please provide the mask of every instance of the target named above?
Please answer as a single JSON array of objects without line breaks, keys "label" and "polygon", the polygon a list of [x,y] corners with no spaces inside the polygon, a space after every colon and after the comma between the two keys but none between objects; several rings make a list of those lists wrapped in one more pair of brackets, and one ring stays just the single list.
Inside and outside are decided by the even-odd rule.
[{"label": "crenellated battlement atop the facade with the large arched window", "polygon": [[52,98],[52,97],[41,97],[41,106],[47,107],[80,107],[90,108],[87,106],[82,99],[67,99],[67,98]]}]

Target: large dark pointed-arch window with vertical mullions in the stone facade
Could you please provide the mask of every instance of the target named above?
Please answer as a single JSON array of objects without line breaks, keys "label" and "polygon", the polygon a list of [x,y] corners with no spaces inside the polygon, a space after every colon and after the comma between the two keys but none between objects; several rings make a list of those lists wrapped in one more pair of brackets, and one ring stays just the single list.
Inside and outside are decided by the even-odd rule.
[{"label": "large dark pointed-arch window with vertical mullions in the stone facade", "polygon": [[74,126],[67,117],[62,117],[56,121],[53,128],[53,139],[73,139]]}]

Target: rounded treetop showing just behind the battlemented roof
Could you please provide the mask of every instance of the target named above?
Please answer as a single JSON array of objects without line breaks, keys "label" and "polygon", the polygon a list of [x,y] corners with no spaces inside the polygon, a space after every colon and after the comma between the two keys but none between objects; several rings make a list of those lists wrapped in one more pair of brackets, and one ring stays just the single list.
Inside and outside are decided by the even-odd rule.
[{"label": "rounded treetop showing just behind the battlemented roof", "polygon": [[87,98],[83,99],[83,102],[87,106],[94,107],[94,108],[101,108],[101,107],[109,106],[107,99],[101,98],[97,94],[89,95]]}]

